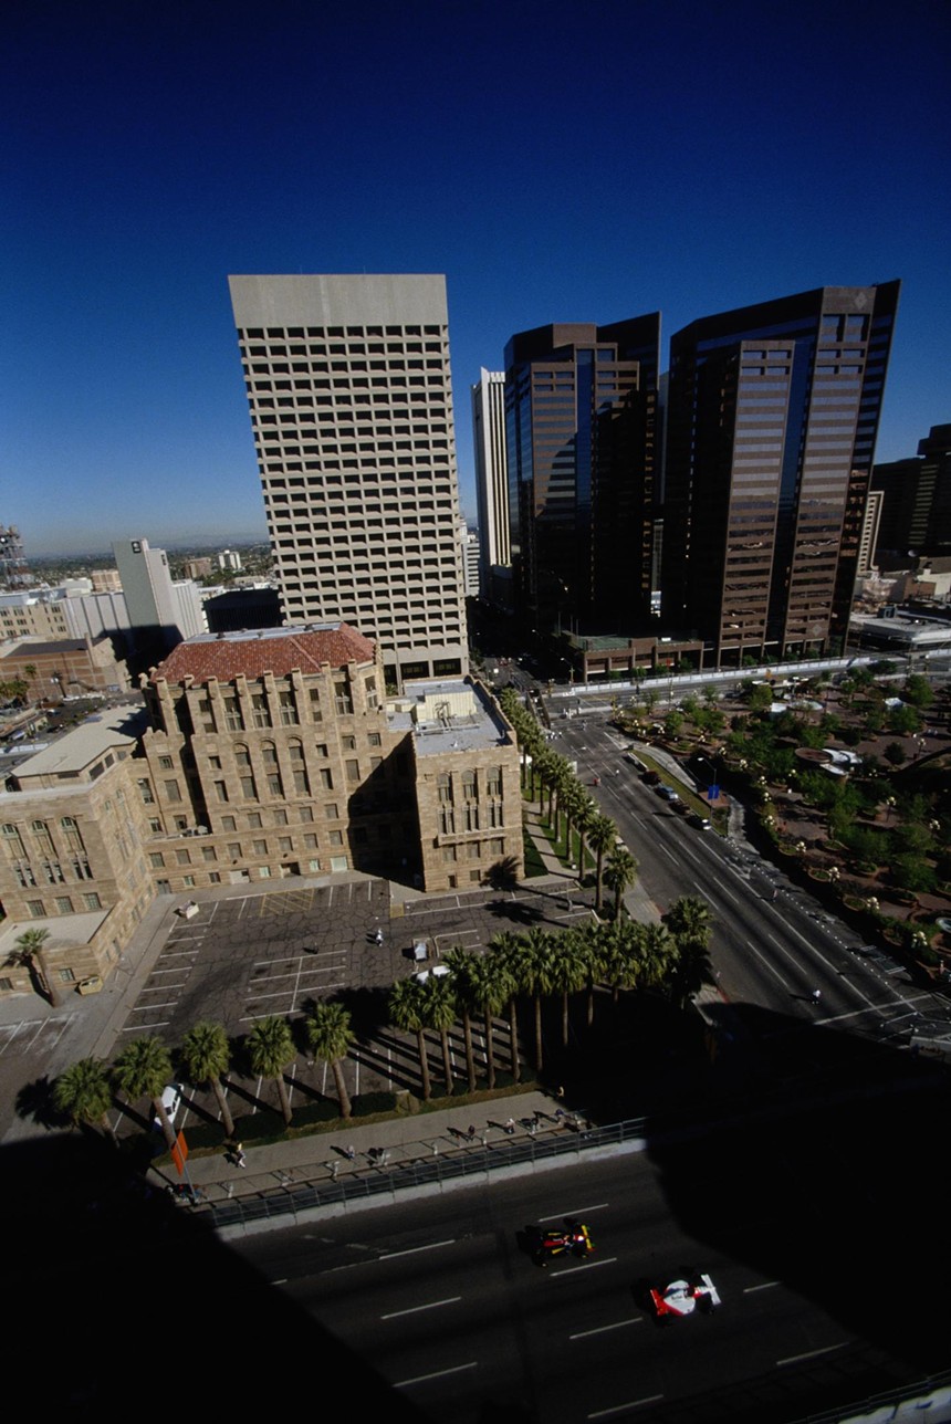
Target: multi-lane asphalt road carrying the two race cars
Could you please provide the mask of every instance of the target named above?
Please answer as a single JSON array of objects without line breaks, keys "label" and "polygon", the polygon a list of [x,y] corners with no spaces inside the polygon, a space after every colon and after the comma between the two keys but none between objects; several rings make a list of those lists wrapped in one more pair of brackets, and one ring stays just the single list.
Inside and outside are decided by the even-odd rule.
[{"label": "multi-lane asphalt road carrying the two race cars", "polygon": [[[824,1215],[841,1218],[800,1195],[811,1156],[789,1173],[802,1121],[762,1129],[752,1152],[718,1131],[236,1249],[430,1420],[767,1424],[942,1361],[937,1323],[915,1340],[888,1294],[904,1227],[861,1266],[858,1210],[830,1256]],[[542,1270],[522,1229],[565,1216],[589,1226],[595,1252]],[[690,1269],[712,1274],[722,1309],[659,1330],[635,1283]]]}]

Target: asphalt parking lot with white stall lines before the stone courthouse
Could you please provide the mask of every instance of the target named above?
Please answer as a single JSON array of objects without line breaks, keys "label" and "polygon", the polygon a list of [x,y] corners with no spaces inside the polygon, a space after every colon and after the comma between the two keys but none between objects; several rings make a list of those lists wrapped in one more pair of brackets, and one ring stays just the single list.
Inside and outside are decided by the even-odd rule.
[{"label": "asphalt parking lot with white stall lines before the stone courthouse", "polygon": [[[535,924],[564,927],[585,917],[587,906],[565,884],[551,877],[534,881],[531,889],[438,897],[393,896],[387,881],[370,877],[296,883],[293,889],[256,894],[232,887],[201,899],[188,918],[169,914],[171,906],[159,903],[155,914],[162,914],[161,933],[149,953],[127,951],[121,971],[107,983],[114,1032],[110,1044],[100,1037],[95,1052],[114,1058],[124,1042],[145,1034],[157,1034],[174,1048],[199,1020],[221,1022],[232,1041],[241,1040],[259,1018],[300,1018],[315,1000],[345,993],[357,1030],[357,1044],[345,1064],[350,1094],[419,1089],[416,1035],[399,1034],[386,1024],[392,984],[438,964],[453,947],[480,951],[503,931],[525,931]],[[424,965],[413,958],[417,944],[426,946]],[[138,964],[127,963],[135,954]],[[7,1005],[0,1027],[0,1077],[11,1089],[11,1105],[24,1084],[43,1079],[47,1065],[53,1065],[54,1077],[90,1052],[91,1017],[103,1017],[105,1007],[105,994],[75,1005],[70,998],[58,1010],[28,998]],[[477,1034],[477,1051],[480,1047]],[[456,1071],[463,1075],[458,1027],[451,1049]],[[430,1051],[434,1078],[440,1078],[436,1035]],[[286,1077],[292,1106],[312,1099],[315,1092],[335,1096],[330,1071],[303,1052]],[[241,1114],[262,1104],[276,1106],[272,1082],[235,1072],[232,1084]],[[216,1116],[212,1094],[186,1087],[177,1126]],[[128,1118],[118,1115],[117,1125],[128,1131]],[[20,1116],[16,1135],[27,1129],[28,1118]]]}]

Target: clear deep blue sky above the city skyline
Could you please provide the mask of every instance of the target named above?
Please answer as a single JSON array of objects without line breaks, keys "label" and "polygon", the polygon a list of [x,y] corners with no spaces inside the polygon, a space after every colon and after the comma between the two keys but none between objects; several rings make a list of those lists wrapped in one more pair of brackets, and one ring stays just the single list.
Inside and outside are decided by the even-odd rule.
[{"label": "clear deep blue sky above the city skyline", "polygon": [[951,7],[7,0],[0,523],[265,533],[229,272],[446,272],[513,332],[903,279],[878,459],[951,422]]}]

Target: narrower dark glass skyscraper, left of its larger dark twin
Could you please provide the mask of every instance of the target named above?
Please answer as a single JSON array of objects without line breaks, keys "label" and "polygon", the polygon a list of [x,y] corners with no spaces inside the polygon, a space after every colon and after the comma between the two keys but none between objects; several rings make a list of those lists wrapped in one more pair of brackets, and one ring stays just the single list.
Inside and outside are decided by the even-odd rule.
[{"label": "narrower dark glass skyscraper, left of its larger dark twin", "polygon": [[651,607],[659,313],[505,347],[511,560],[540,629],[629,634]]}]

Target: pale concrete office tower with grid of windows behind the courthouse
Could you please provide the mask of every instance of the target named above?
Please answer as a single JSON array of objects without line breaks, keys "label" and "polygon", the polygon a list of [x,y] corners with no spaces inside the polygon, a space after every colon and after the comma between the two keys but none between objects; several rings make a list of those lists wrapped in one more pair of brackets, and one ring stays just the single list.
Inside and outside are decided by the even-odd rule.
[{"label": "pale concrete office tower with grid of windows behind the courthouse", "polygon": [[285,622],[467,671],[443,276],[232,276]]}]

